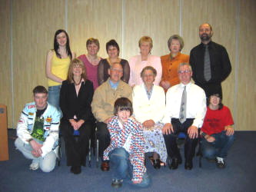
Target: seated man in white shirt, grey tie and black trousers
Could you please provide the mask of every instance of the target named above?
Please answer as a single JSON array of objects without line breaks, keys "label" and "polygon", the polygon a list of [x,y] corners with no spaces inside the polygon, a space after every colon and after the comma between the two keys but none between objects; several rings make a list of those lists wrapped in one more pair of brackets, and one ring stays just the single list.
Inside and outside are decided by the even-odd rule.
[{"label": "seated man in white shirt, grey tie and black trousers", "polygon": [[192,159],[198,142],[198,128],[201,127],[206,113],[204,90],[191,83],[192,71],[188,63],[178,67],[181,83],[168,89],[166,94],[166,111],[162,132],[168,156],[171,158],[169,168],[175,170],[181,164],[181,154],[176,140],[180,132],[187,134],[185,139],[185,169],[191,170]]}]

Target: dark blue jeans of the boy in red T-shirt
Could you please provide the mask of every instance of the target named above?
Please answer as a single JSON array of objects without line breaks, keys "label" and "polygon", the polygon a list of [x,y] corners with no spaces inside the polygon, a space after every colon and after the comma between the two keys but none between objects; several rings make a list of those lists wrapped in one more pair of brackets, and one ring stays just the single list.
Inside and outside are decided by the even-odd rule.
[{"label": "dark blue jeans of the boy in red T-shirt", "polygon": [[202,140],[202,154],[208,159],[214,159],[215,157],[227,157],[228,150],[234,143],[234,135],[226,135],[226,131],[222,131],[218,134],[211,134],[215,138],[215,141],[210,143],[206,139]]}]

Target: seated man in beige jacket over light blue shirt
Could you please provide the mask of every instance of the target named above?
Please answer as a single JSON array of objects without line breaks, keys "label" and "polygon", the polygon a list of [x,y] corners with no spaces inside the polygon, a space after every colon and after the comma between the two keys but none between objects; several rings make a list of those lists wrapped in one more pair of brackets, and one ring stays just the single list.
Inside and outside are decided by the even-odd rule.
[{"label": "seated man in beige jacket over light blue shirt", "polygon": [[[99,156],[102,158],[103,151],[110,144],[108,132],[108,121],[114,115],[114,103],[118,98],[128,98],[131,100],[131,87],[124,81],[123,68],[120,63],[111,65],[108,69],[109,78],[96,90],[91,103],[92,113],[97,120],[97,138],[99,141]],[[101,170],[109,170],[108,161],[102,161]]]}]

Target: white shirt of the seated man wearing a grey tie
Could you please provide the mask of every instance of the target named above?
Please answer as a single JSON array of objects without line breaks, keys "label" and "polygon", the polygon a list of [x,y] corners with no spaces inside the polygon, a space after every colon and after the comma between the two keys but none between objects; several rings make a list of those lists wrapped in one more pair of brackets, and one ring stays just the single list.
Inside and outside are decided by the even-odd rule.
[{"label": "white shirt of the seated man wearing a grey tie", "polygon": [[171,118],[179,118],[184,86],[186,86],[187,91],[186,118],[194,118],[192,125],[201,127],[206,113],[206,97],[204,90],[191,82],[189,84],[176,84],[168,89],[163,123],[171,123]]}]

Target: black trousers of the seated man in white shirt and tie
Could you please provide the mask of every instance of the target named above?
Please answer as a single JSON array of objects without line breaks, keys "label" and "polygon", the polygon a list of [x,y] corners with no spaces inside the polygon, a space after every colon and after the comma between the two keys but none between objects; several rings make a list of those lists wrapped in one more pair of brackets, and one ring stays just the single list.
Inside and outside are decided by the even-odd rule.
[{"label": "black trousers of the seated man in white shirt and tie", "polygon": [[[181,158],[180,151],[177,146],[177,137],[180,132],[188,134],[188,127],[193,124],[194,119],[186,119],[186,121],[181,124],[177,118],[171,119],[171,124],[174,129],[174,133],[164,134],[165,145],[167,149],[168,156],[171,158]],[[195,147],[198,144],[198,138],[191,139],[186,137],[185,139],[185,159],[191,161],[194,157]]]}]

